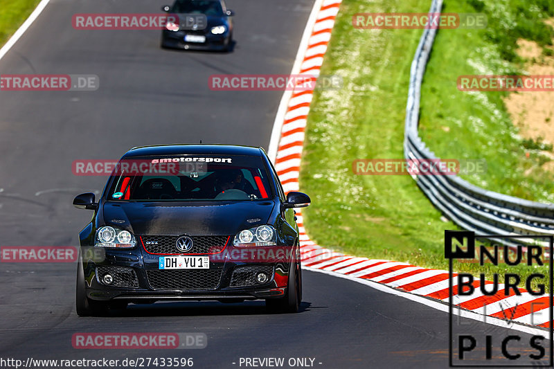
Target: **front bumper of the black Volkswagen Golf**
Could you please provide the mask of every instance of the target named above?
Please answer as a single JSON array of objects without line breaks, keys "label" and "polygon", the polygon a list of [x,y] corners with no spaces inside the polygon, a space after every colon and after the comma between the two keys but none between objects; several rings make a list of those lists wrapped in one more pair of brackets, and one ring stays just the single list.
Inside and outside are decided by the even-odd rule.
[{"label": "front bumper of the black Volkswagen Golf", "polygon": [[[287,289],[290,264],[287,258],[272,262],[240,262],[221,255],[206,255],[210,258],[210,269],[164,270],[158,269],[160,256],[137,247],[130,251],[107,249],[102,261],[83,260],[87,297],[136,303],[256,300],[281,297]],[[269,276],[263,284],[251,278],[253,273],[260,271]],[[111,285],[103,281],[106,273],[114,279]]]}]

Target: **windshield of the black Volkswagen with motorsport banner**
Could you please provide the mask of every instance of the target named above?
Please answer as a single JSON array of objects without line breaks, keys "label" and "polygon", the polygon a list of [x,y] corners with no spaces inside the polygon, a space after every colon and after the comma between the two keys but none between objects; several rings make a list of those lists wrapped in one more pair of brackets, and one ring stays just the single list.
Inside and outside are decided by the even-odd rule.
[{"label": "windshield of the black Volkswagen with motorsport banner", "polygon": [[111,201],[244,201],[269,199],[259,156],[149,156],[124,159],[112,174]]}]

